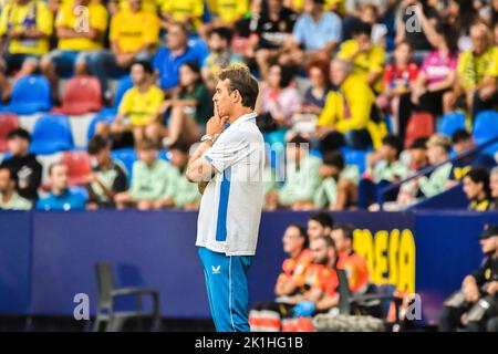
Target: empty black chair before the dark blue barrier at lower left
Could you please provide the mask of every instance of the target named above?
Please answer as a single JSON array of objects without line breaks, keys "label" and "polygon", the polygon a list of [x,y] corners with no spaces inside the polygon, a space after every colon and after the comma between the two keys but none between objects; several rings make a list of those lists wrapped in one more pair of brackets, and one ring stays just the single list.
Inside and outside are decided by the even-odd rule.
[{"label": "empty black chair before the dark blue barrier at lower left", "polygon": [[[94,332],[120,332],[128,320],[138,323],[138,330],[145,331],[144,322],[151,321],[149,331],[158,331],[160,325],[159,293],[154,289],[144,288],[115,288],[113,269],[107,263],[95,266],[98,288],[98,304],[96,319],[93,326]],[[115,300],[120,296],[134,296],[136,301],[135,311],[115,311]],[[152,311],[143,311],[143,296],[152,299]]]}]

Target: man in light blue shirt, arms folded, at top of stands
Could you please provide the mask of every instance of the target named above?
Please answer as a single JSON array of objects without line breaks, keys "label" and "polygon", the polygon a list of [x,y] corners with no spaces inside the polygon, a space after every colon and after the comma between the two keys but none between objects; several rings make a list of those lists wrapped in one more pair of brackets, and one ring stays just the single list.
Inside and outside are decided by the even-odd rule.
[{"label": "man in light blue shirt, arms folded, at top of stands", "polygon": [[323,4],[324,0],[304,0],[304,13],[298,18],[287,44],[294,64],[310,59],[330,59],[341,41],[341,18],[324,11]]}]

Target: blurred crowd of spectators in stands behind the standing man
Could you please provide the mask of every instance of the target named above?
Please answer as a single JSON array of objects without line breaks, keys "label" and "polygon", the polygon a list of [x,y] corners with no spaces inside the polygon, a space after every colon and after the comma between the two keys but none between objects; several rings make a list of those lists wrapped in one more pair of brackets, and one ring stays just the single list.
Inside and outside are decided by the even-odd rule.
[{"label": "blurred crowd of spectators in stands behind the standing man", "polygon": [[[3,0],[0,9],[2,209],[196,209],[185,167],[230,64],[260,82],[267,210],[402,210],[458,184],[470,209],[498,207],[497,149],[479,148],[498,136],[496,0]],[[95,115],[77,152],[85,168],[39,162],[43,134],[15,110],[19,97],[37,100],[21,92],[34,82],[49,93],[38,113]],[[131,148],[126,166],[120,152]]]}]

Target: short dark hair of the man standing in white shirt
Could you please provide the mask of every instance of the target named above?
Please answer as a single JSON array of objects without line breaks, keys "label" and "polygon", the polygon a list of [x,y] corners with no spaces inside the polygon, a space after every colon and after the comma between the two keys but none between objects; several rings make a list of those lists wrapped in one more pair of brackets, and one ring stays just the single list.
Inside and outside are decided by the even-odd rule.
[{"label": "short dark hair of the man standing in white shirt", "polygon": [[256,100],[258,100],[259,85],[255,76],[251,75],[249,67],[245,64],[231,64],[221,70],[218,79],[229,80],[229,92],[238,91],[242,97],[242,105],[255,110]]}]

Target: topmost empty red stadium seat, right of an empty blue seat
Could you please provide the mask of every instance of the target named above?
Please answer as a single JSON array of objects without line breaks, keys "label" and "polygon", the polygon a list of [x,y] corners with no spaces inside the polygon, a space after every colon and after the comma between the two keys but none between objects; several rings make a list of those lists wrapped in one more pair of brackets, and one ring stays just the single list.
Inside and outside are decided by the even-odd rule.
[{"label": "topmost empty red stadium seat, right of an empty blue seat", "polygon": [[82,115],[102,110],[101,83],[96,77],[79,75],[70,79],[62,94],[62,106],[53,112]]}]

